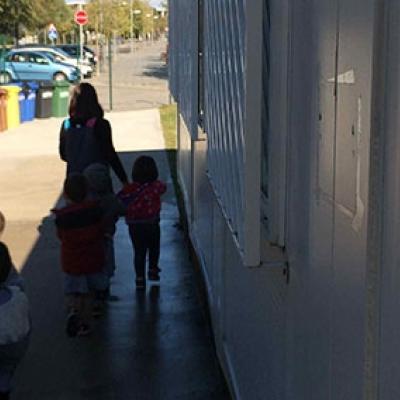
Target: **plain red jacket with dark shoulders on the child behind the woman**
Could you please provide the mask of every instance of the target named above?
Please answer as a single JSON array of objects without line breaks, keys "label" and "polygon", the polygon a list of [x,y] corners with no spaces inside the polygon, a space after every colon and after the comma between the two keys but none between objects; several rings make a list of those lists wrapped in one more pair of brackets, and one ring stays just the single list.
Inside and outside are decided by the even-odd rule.
[{"label": "plain red jacket with dark shoulders on the child behind the woman", "polygon": [[72,275],[99,272],[104,265],[104,224],[99,203],[71,204],[54,213],[63,271]]}]

